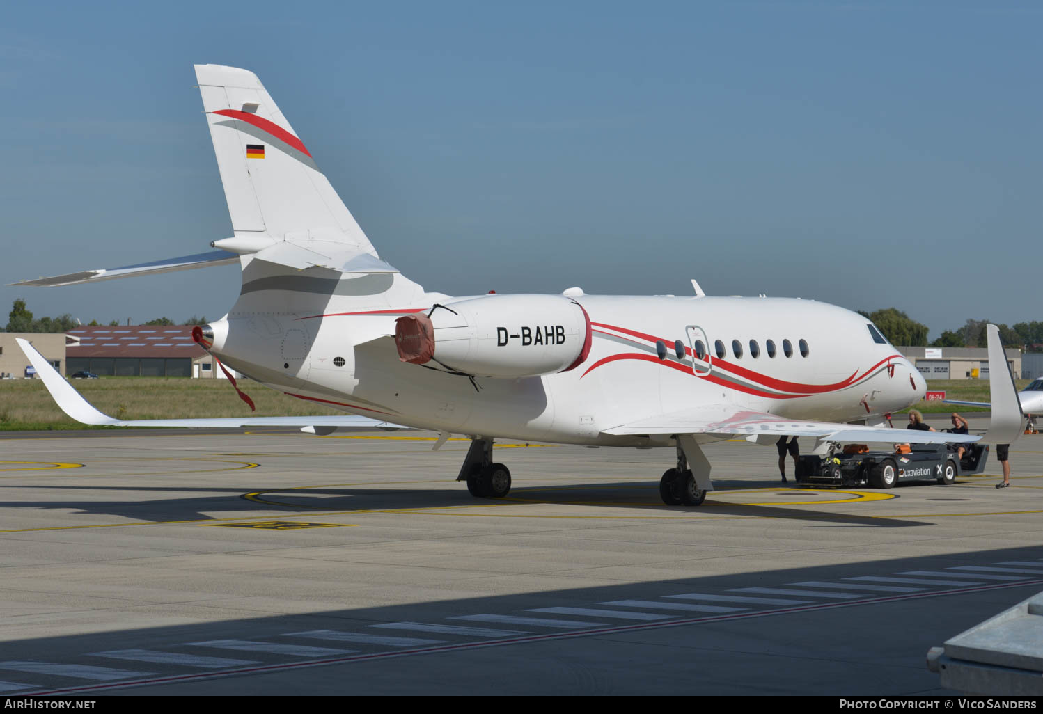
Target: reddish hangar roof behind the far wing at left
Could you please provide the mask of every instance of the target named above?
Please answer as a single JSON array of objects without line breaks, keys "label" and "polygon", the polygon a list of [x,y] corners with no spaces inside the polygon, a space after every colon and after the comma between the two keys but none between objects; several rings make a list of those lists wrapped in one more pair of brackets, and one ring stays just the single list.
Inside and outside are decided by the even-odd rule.
[{"label": "reddish hangar roof behind the far wing at left", "polygon": [[205,352],[192,325],[77,327],[66,333],[66,358],[192,358]]}]

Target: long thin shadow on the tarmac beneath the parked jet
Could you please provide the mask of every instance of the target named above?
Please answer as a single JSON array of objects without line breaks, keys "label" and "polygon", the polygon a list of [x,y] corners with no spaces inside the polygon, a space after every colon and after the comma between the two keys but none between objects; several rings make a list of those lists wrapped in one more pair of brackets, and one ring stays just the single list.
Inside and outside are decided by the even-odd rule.
[{"label": "long thin shadow on the tarmac beneath the parked jet", "polygon": [[[620,509],[628,512],[642,512],[650,518],[661,518],[671,514],[679,517],[705,516],[731,516],[746,518],[776,518],[791,520],[819,521],[841,524],[856,524],[875,528],[905,528],[929,526],[933,523],[920,521],[914,518],[888,518],[872,515],[859,515],[853,513],[832,512],[834,508],[828,500],[828,495],[821,501],[814,503],[814,509],[787,508],[786,500],[799,498],[804,502],[810,502],[811,494],[823,493],[823,490],[804,490],[787,488],[777,482],[750,482],[750,481],[728,481],[721,479],[714,482],[718,490],[710,493],[703,506],[686,508],[681,506],[664,506],[659,501],[658,488],[649,482],[618,482],[618,483],[585,483],[582,485],[567,487],[515,487],[507,498],[498,499],[476,499],[471,497],[463,485],[459,485],[459,490],[446,490],[445,488],[417,488],[415,486],[403,487],[389,484],[387,488],[371,487],[319,487],[319,488],[294,488],[286,489],[265,489],[263,491],[244,492],[240,488],[199,488],[199,487],[99,487],[99,486],[33,486],[34,492],[43,494],[48,490],[68,494],[69,492],[82,491],[86,495],[83,499],[69,499],[58,497],[54,500],[0,500],[0,508],[8,509],[34,509],[34,510],[63,510],[76,511],[86,514],[103,514],[118,516],[137,521],[146,522],[171,522],[171,521],[194,521],[216,519],[214,513],[220,513],[220,518],[227,520],[236,518],[237,511],[243,512],[243,518],[264,517],[270,513],[272,516],[293,513],[296,517],[307,517],[309,513],[332,514],[343,513],[350,515],[353,512],[362,511],[410,511],[417,509],[452,509],[459,507],[488,507],[514,509],[537,508],[545,504],[568,504],[576,508],[595,509]],[[931,487],[932,485],[924,485]],[[3,489],[24,489],[25,486],[0,485],[0,494]],[[899,495],[905,489],[917,489],[920,485],[908,484],[889,491],[889,495]],[[946,500],[955,497],[951,490],[943,490],[940,487],[939,498]],[[729,494],[741,494],[743,491],[758,492],[756,496],[759,502],[742,503],[728,502]],[[153,499],[102,499],[99,495],[106,492],[112,493],[155,493],[171,494],[172,497],[160,497]],[[897,494],[896,494],[897,492]],[[807,493],[808,498],[804,499],[801,494]],[[177,494],[187,494],[185,497],[177,497]],[[191,495],[188,495],[191,494]],[[770,501],[778,499],[778,504]],[[963,500],[963,498],[960,498]],[[850,509],[852,503],[846,502],[836,504],[838,509]],[[862,507],[856,507],[862,508]],[[591,513],[591,515],[595,515]],[[628,515],[632,515],[628,514]]]}]

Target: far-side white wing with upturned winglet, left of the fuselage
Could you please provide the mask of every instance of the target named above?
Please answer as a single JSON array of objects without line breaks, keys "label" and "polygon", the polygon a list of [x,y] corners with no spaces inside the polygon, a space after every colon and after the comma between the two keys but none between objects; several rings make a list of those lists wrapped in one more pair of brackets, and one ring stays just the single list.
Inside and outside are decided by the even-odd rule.
[{"label": "far-side white wing with upturned winglet, left of the fuselage", "polygon": [[370,417],[355,414],[312,416],[312,417],[222,417],[215,419],[116,419],[95,409],[83,398],[64,376],[29,344],[28,340],[16,338],[19,347],[37,369],[44,386],[58,408],[81,424],[98,426],[183,426],[189,428],[237,428],[242,426],[295,426],[309,434],[325,435],[338,428],[409,428]]}]

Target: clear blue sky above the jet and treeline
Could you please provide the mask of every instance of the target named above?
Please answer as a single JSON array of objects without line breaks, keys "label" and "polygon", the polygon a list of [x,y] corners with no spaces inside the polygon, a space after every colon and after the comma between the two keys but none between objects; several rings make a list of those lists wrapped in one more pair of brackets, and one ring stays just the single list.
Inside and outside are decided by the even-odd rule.
[{"label": "clear blue sky above the jet and treeline", "polygon": [[[1036,2],[19,3],[0,281],[231,235],[192,65],[254,71],[382,257],[455,295],[799,296],[1043,319]],[[217,318],[232,267],[38,316]],[[5,320],[4,320],[5,321]]]}]

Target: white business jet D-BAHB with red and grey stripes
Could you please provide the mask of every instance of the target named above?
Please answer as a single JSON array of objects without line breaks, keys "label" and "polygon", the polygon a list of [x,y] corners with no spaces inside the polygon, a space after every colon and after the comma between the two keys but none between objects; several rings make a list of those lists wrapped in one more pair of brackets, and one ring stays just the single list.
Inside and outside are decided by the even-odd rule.
[{"label": "white business jet D-BAHB with red and grey stripes", "polygon": [[[19,344],[72,418],[114,426],[293,425],[313,434],[399,425],[470,438],[457,475],[476,497],[502,498],[510,470],[495,439],[666,447],[668,504],[698,506],[713,489],[703,446],[746,438],[969,442],[978,436],[897,433],[883,416],[919,401],[920,373],[856,313],[814,300],[560,295],[450,297],[380,257],[311,151],[258,77],[195,68],[233,236],[216,250],[17,285],[98,282],[239,263],[228,313],[194,328],[221,365],[344,416],[120,420],[88,403],[24,340]],[[989,328],[992,364],[1005,364]],[[224,367],[222,367],[224,369]],[[985,439],[1020,434],[1013,381],[992,379]],[[248,395],[233,383],[244,399]],[[1013,424],[1013,426],[1012,426]]]}]

